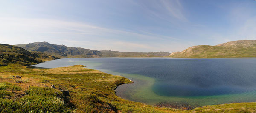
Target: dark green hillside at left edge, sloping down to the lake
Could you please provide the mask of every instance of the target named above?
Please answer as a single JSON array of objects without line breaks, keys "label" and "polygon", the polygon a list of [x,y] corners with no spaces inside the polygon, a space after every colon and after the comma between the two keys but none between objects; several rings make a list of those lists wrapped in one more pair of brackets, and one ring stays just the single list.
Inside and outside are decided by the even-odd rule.
[{"label": "dark green hillside at left edge, sloping down to the lake", "polygon": [[0,44],[0,66],[7,66],[10,63],[29,66],[53,59],[57,58],[42,52],[29,52],[21,47]]}]

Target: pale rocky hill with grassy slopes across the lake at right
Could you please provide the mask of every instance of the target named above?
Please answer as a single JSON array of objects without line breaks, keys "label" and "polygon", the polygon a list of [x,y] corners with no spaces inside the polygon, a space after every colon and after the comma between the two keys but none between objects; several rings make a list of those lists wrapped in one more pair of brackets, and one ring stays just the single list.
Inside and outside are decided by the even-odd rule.
[{"label": "pale rocky hill with grassy slopes across the lake at right", "polygon": [[215,46],[198,45],[182,52],[173,52],[169,57],[176,58],[230,58],[256,57],[256,40],[230,41]]}]

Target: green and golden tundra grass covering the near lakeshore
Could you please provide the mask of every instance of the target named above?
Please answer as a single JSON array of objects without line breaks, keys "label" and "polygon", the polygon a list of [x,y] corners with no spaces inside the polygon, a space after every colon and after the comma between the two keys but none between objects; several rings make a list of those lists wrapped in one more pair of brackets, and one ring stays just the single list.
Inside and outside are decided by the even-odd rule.
[{"label": "green and golden tundra grass covering the near lakeshore", "polygon": [[[13,77],[16,75],[22,78]],[[1,113],[233,113],[256,110],[254,102],[179,110],[128,101],[116,96],[114,89],[120,84],[131,83],[130,80],[81,66],[53,69],[1,66],[0,76]],[[56,88],[50,88],[51,85]],[[70,96],[62,94],[61,90],[68,90]]]}]

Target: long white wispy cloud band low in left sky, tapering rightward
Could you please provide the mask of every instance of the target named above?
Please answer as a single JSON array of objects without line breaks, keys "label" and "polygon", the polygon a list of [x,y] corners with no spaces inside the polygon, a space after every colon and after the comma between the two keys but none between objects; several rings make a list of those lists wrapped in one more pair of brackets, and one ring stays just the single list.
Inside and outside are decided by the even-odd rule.
[{"label": "long white wispy cloud band low in left sky, tapering rightward", "polygon": [[[94,36],[115,36],[122,38],[122,35],[137,39],[166,38],[168,36],[153,33],[136,33],[125,30],[102,28],[81,22],[67,22],[53,19],[27,19],[27,18],[4,18],[0,17],[1,32],[34,32],[34,33],[56,33],[56,34],[83,34]],[[150,35],[147,35],[150,34]],[[122,37],[121,37],[122,36]],[[157,36],[157,37],[155,37]]]}]

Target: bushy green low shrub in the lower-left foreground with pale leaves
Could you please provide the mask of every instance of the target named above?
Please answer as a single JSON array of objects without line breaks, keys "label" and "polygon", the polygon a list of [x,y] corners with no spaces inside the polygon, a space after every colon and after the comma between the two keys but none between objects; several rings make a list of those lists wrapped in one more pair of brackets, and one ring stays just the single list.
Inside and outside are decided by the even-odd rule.
[{"label": "bushy green low shrub in the lower-left foreground with pale leaves", "polygon": [[67,107],[67,98],[54,88],[30,87],[26,91],[26,96],[20,99],[23,103],[21,112],[60,112],[70,113],[71,110]]}]

